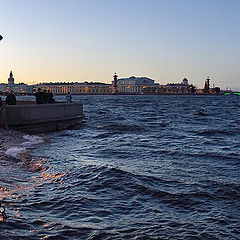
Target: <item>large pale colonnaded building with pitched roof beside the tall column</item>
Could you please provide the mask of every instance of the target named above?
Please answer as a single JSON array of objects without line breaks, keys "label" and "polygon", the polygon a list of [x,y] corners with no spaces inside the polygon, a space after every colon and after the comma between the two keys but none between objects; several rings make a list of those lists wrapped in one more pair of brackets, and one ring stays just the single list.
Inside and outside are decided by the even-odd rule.
[{"label": "large pale colonnaded building with pitched roof beside the tall column", "polygon": [[[115,86],[114,81],[112,85]],[[129,77],[121,78],[117,80],[117,92],[118,93],[132,93],[141,94],[146,92],[147,88],[157,88],[158,83],[154,83],[154,80],[147,77]]]}]

